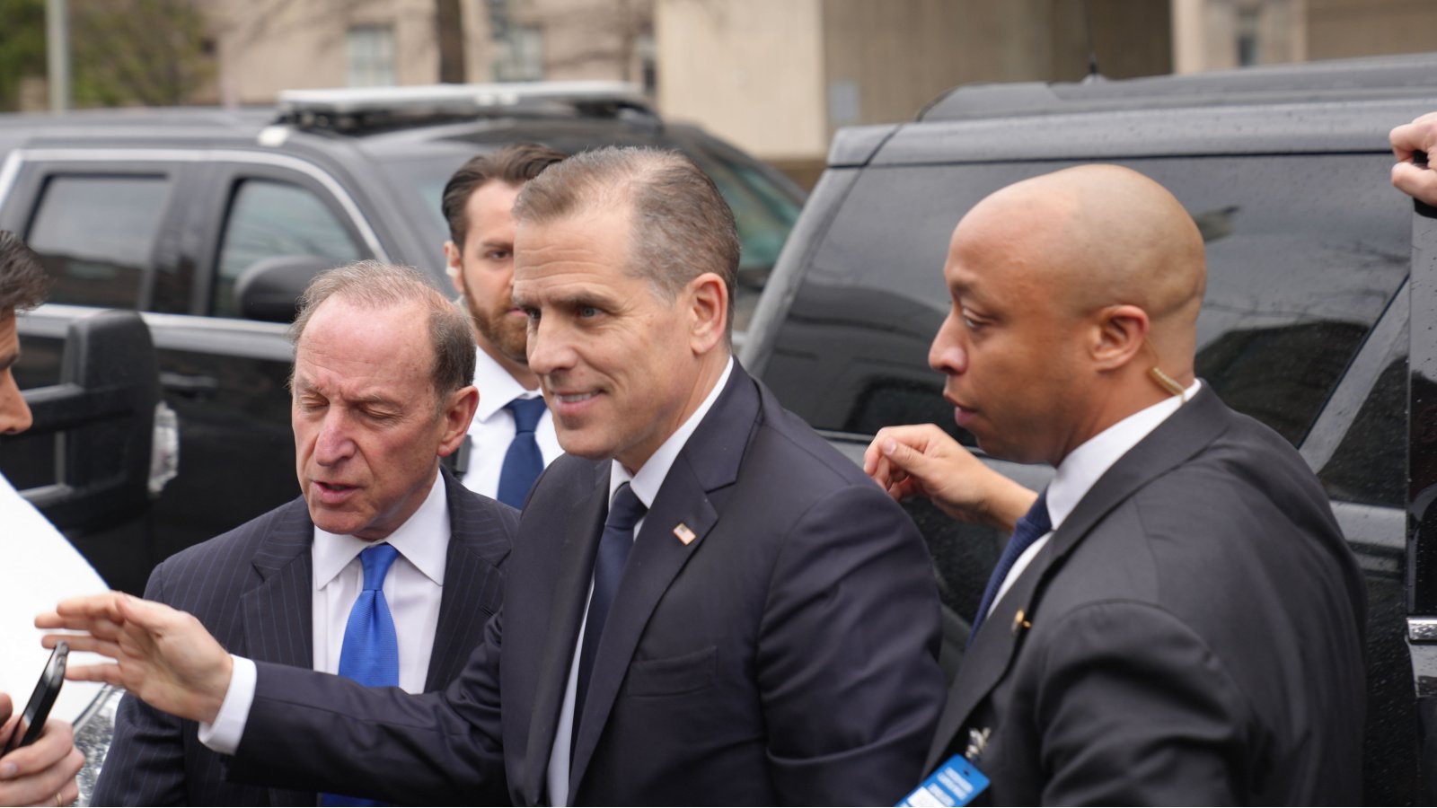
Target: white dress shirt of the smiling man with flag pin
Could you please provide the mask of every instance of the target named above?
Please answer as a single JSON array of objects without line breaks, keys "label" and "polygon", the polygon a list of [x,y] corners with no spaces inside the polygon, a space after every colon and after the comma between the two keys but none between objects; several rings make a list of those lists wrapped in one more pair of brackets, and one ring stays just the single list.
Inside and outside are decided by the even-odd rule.
[{"label": "white dress shirt of the smiling man with flag pin", "polygon": [[[704,401],[688,416],[688,420],[683,426],[674,430],[674,434],[668,436],[668,440],[654,451],[637,473],[629,474],[628,469],[618,460],[609,464],[609,503],[614,502],[614,495],[619,490],[619,486],[629,483],[629,487],[634,489],[634,496],[644,503],[645,509],[654,506],[654,497],[658,496],[658,489],[664,485],[668,469],[678,459],[678,453],[683,451],[684,444],[688,443],[688,437],[698,428],[704,416],[713,408],[714,401],[718,400],[718,394],[729,384],[731,372],[733,357],[729,357],[729,364],[724,365],[723,375],[718,377],[718,382],[708,391]],[[642,529],[644,520],[639,519],[634,525],[634,536],[637,538]],[[593,594],[592,572],[589,574],[589,594]],[[579,624],[579,637],[573,641],[573,658],[569,661],[569,683],[563,689],[563,706],[559,709],[559,729],[555,730],[553,748],[549,750],[549,805],[555,808],[569,804],[569,745],[573,740],[573,699],[579,677],[579,650],[583,648],[583,631],[588,628],[588,624],[589,607],[585,605],[583,621]]]}]

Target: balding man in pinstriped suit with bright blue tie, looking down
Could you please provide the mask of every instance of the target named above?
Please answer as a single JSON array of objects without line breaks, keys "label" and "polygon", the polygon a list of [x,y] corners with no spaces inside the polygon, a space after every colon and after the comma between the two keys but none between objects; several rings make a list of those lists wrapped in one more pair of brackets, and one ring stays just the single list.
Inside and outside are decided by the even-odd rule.
[{"label": "balding man in pinstriped suit with bright blue tie, looking down", "polygon": [[[440,690],[499,611],[517,522],[440,467],[474,413],[468,323],[414,270],[362,262],[310,286],[292,334],[303,496],[170,558],[145,597],[194,614],[236,654],[335,671],[362,588],[359,554],[387,542],[398,551],[384,581],[398,684]],[[226,782],[194,722],[126,696],[93,799],[313,805],[315,794]]]}]

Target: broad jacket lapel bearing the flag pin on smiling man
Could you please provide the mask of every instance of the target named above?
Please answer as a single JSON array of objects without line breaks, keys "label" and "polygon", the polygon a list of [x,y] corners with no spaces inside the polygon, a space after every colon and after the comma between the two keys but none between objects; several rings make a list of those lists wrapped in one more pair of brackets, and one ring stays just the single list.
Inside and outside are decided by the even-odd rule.
[{"label": "broad jacket lapel bearing the flag pin on smiling man", "polygon": [[[716,493],[731,486],[739,477],[739,466],[757,416],[757,385],[734,361],[729,384],[674,459],[634,539],[634,549],[624,566],[624,578],[614,597],[614,605],[609,607],[604,638],[593,658],[589,693],[579,722],[579,738],[570,750],[573,761],[569,776],[570,805],[583,782],[589,761],[593,759],[595,748],[650,615],[684,564],[703,545],[704,536],[718,522],[723,503],[716,499]],[[608,493],[608,486],[604,492]],[[675,533],[680,525],[688,528],[694,536],[687,543]],[[599,531],[602,532],[602,525]],[[591,558],[585,569],[585,592],[592,565]],[[572,637],[569,644],[572,650]]]}]

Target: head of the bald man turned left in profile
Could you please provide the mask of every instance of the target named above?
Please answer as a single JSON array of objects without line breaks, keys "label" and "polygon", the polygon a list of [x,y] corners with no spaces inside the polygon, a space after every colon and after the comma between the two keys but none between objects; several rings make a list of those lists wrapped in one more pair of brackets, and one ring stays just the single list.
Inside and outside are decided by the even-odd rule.
[{"label": "head of the bald man turned left in profile", "polygon": [[1183,206],[1147,177],[1083,165],[1009,185],[953,233],[953,313],[930,361],[994,454],[1056,463],[1187,385],[1206,267]]}]

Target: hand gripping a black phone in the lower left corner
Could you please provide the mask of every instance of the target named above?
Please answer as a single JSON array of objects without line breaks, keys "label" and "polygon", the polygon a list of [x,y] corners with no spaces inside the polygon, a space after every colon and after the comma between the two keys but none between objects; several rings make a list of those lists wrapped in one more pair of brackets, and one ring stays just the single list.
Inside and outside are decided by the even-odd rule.
[{"label": "hand gripping a black phone in the lower left corner", "polygon": [[[13,712],[10,696],[0,693],[0,748],[17,732],[20,716]],[[75,775],[83,765],[70,725],[46,722],[34,743],[0,758],[0,805],[69,805],[80,795]]]}]

